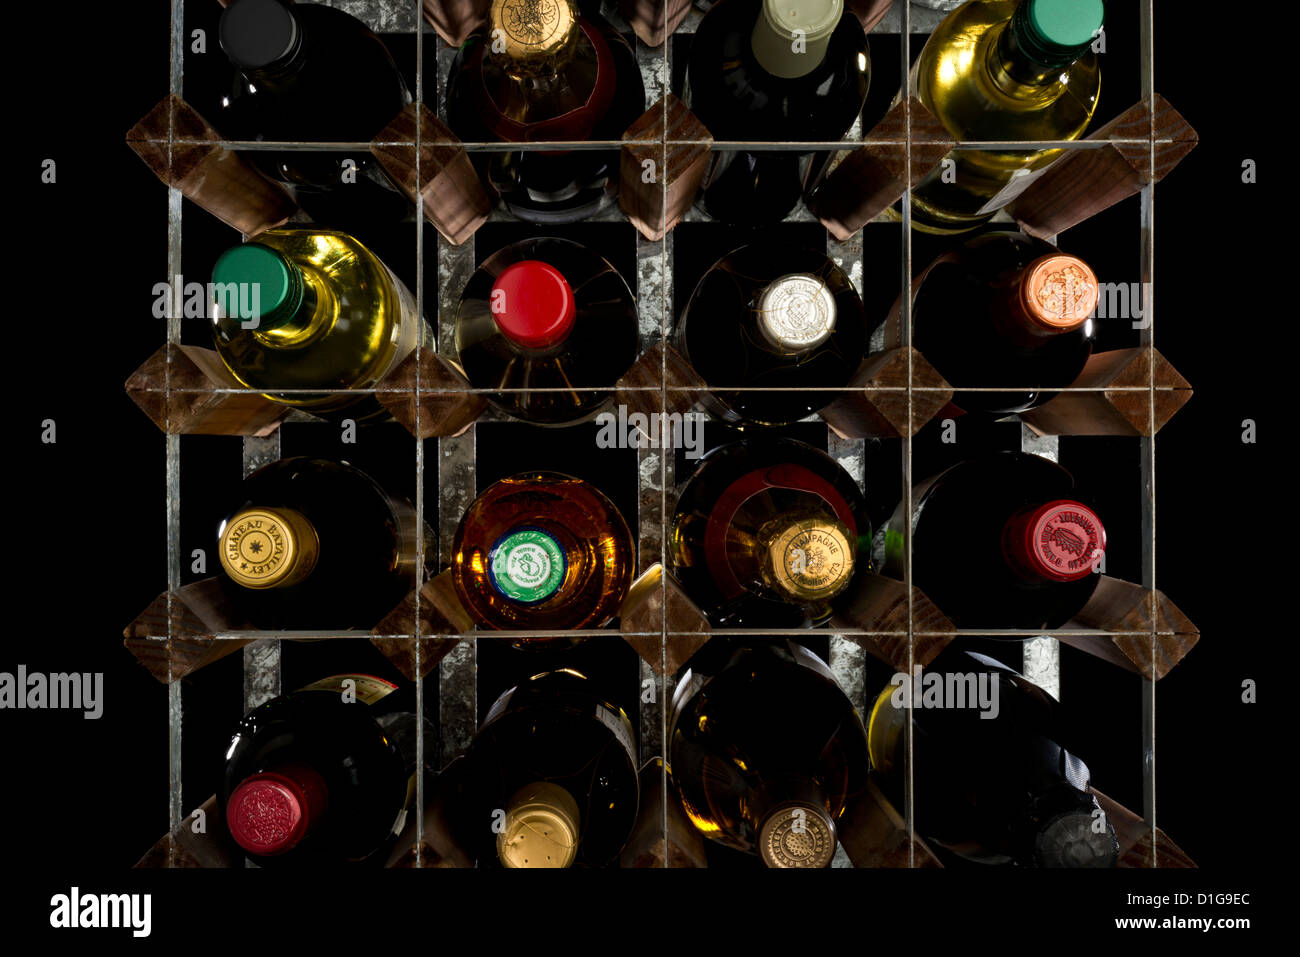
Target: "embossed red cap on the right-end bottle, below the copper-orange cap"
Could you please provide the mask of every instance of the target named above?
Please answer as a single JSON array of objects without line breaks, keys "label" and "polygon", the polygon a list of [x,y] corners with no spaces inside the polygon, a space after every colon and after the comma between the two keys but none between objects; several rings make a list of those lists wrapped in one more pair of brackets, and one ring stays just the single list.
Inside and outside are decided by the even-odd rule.
[{"label": "embossed red cap on the right-end bottle, below the copper-orange cap", "polygon": [[1027,508],[1006,525],[1004,547],[1022,573],[1050,581],[1092,575],[1106,550],[1106,529],[1088,506],[1057,499]]}]

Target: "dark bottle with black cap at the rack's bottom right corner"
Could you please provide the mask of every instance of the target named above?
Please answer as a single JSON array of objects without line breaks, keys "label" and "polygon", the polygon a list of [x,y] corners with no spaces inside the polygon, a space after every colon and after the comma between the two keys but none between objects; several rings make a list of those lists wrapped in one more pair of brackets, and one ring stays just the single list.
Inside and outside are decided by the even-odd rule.
[{"label": "dark bottle with black cap at the rack's bottom right corner", "polygon": [[887,685],[867,727],[871,767],[898,806],[909,698],[922,836],[980,863],[1114,866],[1114,827],[1089,791],[1088,766],[1057,744],[1060,706],[1050,694],[1001,662],[957,648],[924,668],[919,689]]}]

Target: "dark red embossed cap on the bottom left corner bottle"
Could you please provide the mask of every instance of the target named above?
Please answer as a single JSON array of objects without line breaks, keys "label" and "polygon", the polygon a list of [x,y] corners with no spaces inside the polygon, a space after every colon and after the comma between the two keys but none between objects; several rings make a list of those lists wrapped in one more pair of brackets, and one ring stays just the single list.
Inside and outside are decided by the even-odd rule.
[{"label": "dark red embossed cap on the bottom left corner bottle", "polygon": [[325,781],[308,767],[263,771],[240,781],[226,805],[226,827],[250,854],[291,850],[325,809]]}]

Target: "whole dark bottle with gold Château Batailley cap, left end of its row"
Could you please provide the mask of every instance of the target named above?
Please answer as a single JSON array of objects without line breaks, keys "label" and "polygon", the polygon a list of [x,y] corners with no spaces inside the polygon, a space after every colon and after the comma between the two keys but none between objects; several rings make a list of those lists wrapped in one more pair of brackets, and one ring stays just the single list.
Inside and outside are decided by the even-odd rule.
[{"label": "whole dark bottle with gold Ch\u00e2teau Batailley cap, left end of its row", "polygon": [[221,580],[259,628],[370,628],[424,580],[415,510],[347,463],[280,459],[235,501],[217,529]]}]

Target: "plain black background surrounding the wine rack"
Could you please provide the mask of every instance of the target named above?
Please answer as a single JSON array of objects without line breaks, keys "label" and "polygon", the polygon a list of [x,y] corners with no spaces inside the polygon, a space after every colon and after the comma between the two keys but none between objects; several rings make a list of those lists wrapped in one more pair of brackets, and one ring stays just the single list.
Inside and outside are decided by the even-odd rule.
[{"label": "plain black background surrounding the wine rack", "polygon": [[[1118,22],[1136,27],[1136,4],[1112,0],[1109,7],[1104,82],[1110,79],[1112,61],[1122,79],[1104,86],[1101,118],[1136,99],[1136,43],[1115,27]],[[1279,125],[1273,117],[1286,116],[1279,103],[1284,88],[1260,81],[1257,65],[1266,61],[1254,46],[1258,38],[1235,10],[1210,17],[1200,8],[1193,14],[1188,7],[1156,3],[1156,86],[1201,139],[1156,189],[1156,345],[1196,389],[1156,443],[1157,585],[1200,627],[1201,641],[1157,687],[1157,807],[1160,826],[1202,870],[1095,876],[840,871],[807,876],[798,891],[776,891],[775,876],[764,883],[716,871],[658,879],[575,874],[546,880],[545,900],[581,900],[582,914],[590,914],[594,896],[612,896],[627,905],[629,922],[637,923],[671,921],[673,914],[696,921],[714,910],[727,915],[720,923],[734,927],[763,923],[762,911],[754,908],[755,893],[789,892],[798,895],[789,900],[792,913],[805,911],[810,918],[806,909],[812,908],[819,923],[844,923],[841,930],[853,940],[849,924],[859,923],[859,914],[870,921],[872,934],[893,935],[910,932],[906,928],[918,918],[927,923],[924,914],[936,908],[1005,928],[1069,927],[1067,936],[1074,936],[1113,926],[1112,917],[1138,913],[1123,906],[1130,892],[1216,889],[1253,891],[1253,904],[1214,915],[1245,913],[1256,927],[1265,923],[1264,905],[1270,892],[1280,891],[1270,878],[1288,865],[1291,854],[1290,813],[1279,809],[1280,796],[1294,787],[1287,775],[1292,728],[1282,718],[1282,702],[1291,690],[1294,638],[1288,619],[1279,612],[1288,598],[1283,589],[1290,576],[1283,573],[1282,558],[1290,554],[1294,536],[1284,506],[1292,482],[1277,452],[1292,441],[1287,408],[1292,381],[1283,364],[1288,364],[1295,307],[1287,294],[1288,272],[1279,261],[1284,244],[1274,224],[1287,225],[1294,192],[1284,182],[1290,173],[1283,140],[1270,135]],[[151,287],[168,272],[166,191],[130,153],[124,134],[168,88],[169,4],[22,5],[10,16],[10,44],[30,46],[39,60],[23,75],[10,77],[6,98],[6,264],[10,289],[17,293],[10,302],[17,308],[6,330],[16,412],[5,419],[13,485],[4,523],[9,633],[0,671],[12,672],[20,663],[29,671],[101,671],[105,703],[104,716],[95,722],[70,711],[0,714],[0,827],[4,866],[10,871],[0,911],[9,911],[8,926],[40,930],[48,924],[49,895],[73,884],[86,891],[147,889],[155,895],[155,937],[172,939],[194,932],[186,927],[214,927],[218,919],[225,931],[239,931],[244,927],[239,906],[226,901],[261,896],[283,901],[299,932],[296,921],[306,919],[300,908],[338,900],[352,901],[358,913],[384,914],[391,930],[419,932],[438,945],[439,921],[460,923],[469,911],[447,910],[439,917],[421,901],[465,900],[490,915],[502,901],[519,901],[523,895],[503,887],[500,875],[463,872],[367,875],[364,880],[313,875],[291,884],[282,875],[129,870],[166,830],[166,689],[122,649],[121,629],[165,586],[166,557],[162,436],[126,398],[122,382],[164,339],[162,320],[152,319],[150,308]],[[892,94],[897,86],[893,42],[874,38],[875,48],[889,47],[879,55],[878,92]],[[914,42],[914,53],[919,47]],[[220,57],[211,33],[208,57]],[[429,98],[429,77],[425,83]],[[1124,90],[1126,101],[1113,99],[1113,90]],[[47,157],[57,161],[55,185],[40,182],[40,163]],[[1242,182],[1247,159],[1258,164],[1257,185]],[[238,237],[188,202],[185,225],[186,276],[203,278],[203,259],[211,261]],[[1102,280],[1109,272],[1115,280],[1136,281],[1139,225],[1135,198],[1065,234],[1062,246],[1102,260]],[[416,264],[407,251],[413,250],[408,231],[413,228],[406,224],[394,228],[393,237],[374,239],[381,255],[412,285]],[[627,233],[630,226],[590,229]],[[714,228],[688,224],[679,230],[679,260],[692,243],[716,244],[692,235],[708,229]],[[819,235],[815,228],[801,229]],[[868,290],[866,298],[875,295],[885,304],[897,294],[897,242],[896,234],[878,238],[874,230],[888,229],[874,225],[867,230],[868,251],[881,250],[879,274],[890,277],[884,282],[893,285],[888,293]],[[485,228],[480,235],[482,255],[512,238],[507,226]],[[603,239],[590,234],[585,241],[606,248]],[[434,242],[436,234],[426,228],[429,264]],[[922,255],[918,247],[918,259]],[[703,268],[699,259],[693,261],[697,272]],[[434,282],[426,282],[432,300]],[[689,289],[685,282],[679,282],[679,293]],[[432,308],[426,316],[434,319]],[[53,445],[39,438],[46,419],[57,423]],[[1244,419],[1257,423],[1257,445],[1240,441]],[[285,452],[324,449],[332,441],[333,432],[313,434],[312,428],[300,426],[294,437],[286,430]],[[493,436],[497,429],[499,436]],[[523,460],[526,452],[519,450],[532,443],[507,434],[511,429],[524,430],[508,425],[481,430],[484,481],[489,471],[497,477],[514,471],[515,463],[540,464]],[[953,454],[974,451],[978,443],[1014,446],[1014,426],[998,429],[991,436],[963,433]],[[547,442],[555,436],[545,433]],[[715,437],[716,432],[710,442]],[[590,447],[589,437],[577,430],[568,442],[575,449]],[[214,490],[238,480],[239,439],[186,437],[182,450],[182,554],[187,554],[198,547],[190,537],[205,536],[220,514]],[[363,445],[346,454],[413,493],[413,441],[398,426],[368,429]],[[562,452],[552,449],[550,454]],[[914,454],[920,475],[922,463],[939,464],[949,451],[940,450],[927,429],[918,436]],[[1140,494],[1138,455],[1136,439],[1062,442],[1063,464],[1093,490],[1113,495],[1114,507],[1134,523]],[[868,499],[876,521],[897,501],[898,460],[897,443],[868,445]],[[604,468],[611,476],[629,473],[621,463]],[[876,475],[879,490],[870,486]],[[624,505],[634,488],[615,481],[606,490],[634,514],[630,502]],[[433,495],[428,514],[433,523],[436,489],[426,488],[426,494]],[[1117,549],[1117,555],[1123,567],[1108,571],[1136,577],[1136,545]],[[348,645],[358,649],[359,659],[369,651],[359,640],[320,654],[343,654]],[[634,674],[630,655],[621,651],[611,651],[620,658],[618,670]],[[286,651],[286,687],[299,672],[304,680],[316,676],[312,672],[324,659],[308,662],[307,654]],[[495,651],[485,654],[502,659]],[[1063,658],[1062,698],[1075,713],[1078,733],[1091,744],[1083,753],[1095,781],[1140,809],[1140,680],[1070,649]],[[490,667],[507,679],[515,666],[502,661]],[[384,667],[377,654],[365,658],[365,664],[364,670]],[[209,671],[191,683],[192,690],[187,684],[187,715],[237,716],[239,655]],[[1260,703],[1242,703],[1245,679],[1257,681]],[[432,683],[426,687],[432,690]],[[481,689],[484,707],[490,696]],[[436,703],[430,697],[430,707]],[[187,810],[203,787],[202,780],[190,780],[188,768],[203,761],[198,753],[203,739],[198,732],[191,737],[190,720]],[[208,733],[214,732],[209,728]],[[534,885],[526,896],[537,892]],[[810,896],[803,898],[805,893]],[[732,909],[736,901],[744,906]],[[861,906],[841,910],[835,901]],[[870,917],[868,902],[874,904]],[[263,909],[252,910],[265,919]],[[586,923],[578,914],[567,918],[573,932],[575,924]],[[324,918],[317,913],[315,919]],[[476,924],[480,932],[491,930],[490,923]],[[928,923],[926,931],[931,931]]]}]

